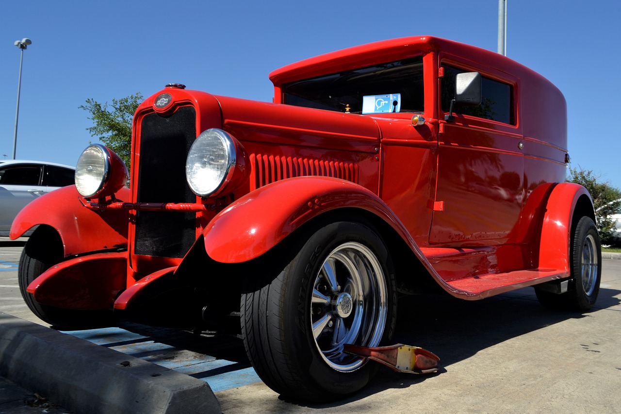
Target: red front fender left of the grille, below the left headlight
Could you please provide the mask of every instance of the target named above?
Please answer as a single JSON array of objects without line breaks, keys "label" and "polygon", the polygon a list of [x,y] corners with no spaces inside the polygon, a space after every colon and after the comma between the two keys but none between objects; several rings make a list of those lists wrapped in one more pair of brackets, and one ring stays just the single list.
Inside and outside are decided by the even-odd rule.
[{"label": "red front fender left of the grille, below the left headlight", "polygon": [[[129,200],[128,188],[117,198]],[[17,239],[34,226],[54,228],[63,241],[65,257],[127,246],[129,212],[126,210],[93,210],[80,201],[75,185],[44,194],[17,214],[11,226],[11,239]]]}]

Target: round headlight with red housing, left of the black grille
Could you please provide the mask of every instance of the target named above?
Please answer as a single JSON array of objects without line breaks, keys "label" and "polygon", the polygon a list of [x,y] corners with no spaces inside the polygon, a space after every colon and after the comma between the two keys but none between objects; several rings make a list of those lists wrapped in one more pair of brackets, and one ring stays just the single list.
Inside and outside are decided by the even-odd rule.
[{"label": "round headlight with red housing, left of the black grille", "polygon": [[112,195],[127,183],[125,163],[103,145],[89,145],[76,165],[76,188],[84,198]]}]

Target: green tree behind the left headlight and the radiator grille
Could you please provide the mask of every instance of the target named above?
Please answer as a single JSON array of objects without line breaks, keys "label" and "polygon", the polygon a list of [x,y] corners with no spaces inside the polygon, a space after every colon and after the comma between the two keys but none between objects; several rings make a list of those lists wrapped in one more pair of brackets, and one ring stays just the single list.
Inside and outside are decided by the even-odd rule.
[{"label": "green tree behind the left headlight and the radiator grille", "polygon": [[143,96],[140,92],[120,99],[112,99],[111,108],[108,103],[103,104],[96,100],[86,99],[86,105],[79,108],[88,111],[94,126],[87,128],[91,136],[103,142],[113,150],[130,168],[132,154],[132,119],[138,105],[142,103]]}]

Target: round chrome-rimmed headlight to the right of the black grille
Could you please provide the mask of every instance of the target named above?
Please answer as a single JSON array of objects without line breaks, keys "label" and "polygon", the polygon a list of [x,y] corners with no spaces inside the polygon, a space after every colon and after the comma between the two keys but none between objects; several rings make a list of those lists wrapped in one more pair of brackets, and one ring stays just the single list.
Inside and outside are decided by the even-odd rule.
[{"label": "round chrome-rimmed headlight to the right of the black grille", "polygon": [[188,185],[201,197],[217,195],[230,182],[236,159],[233,137],[222,129],[207,129],[189,150],[186,160]]}]

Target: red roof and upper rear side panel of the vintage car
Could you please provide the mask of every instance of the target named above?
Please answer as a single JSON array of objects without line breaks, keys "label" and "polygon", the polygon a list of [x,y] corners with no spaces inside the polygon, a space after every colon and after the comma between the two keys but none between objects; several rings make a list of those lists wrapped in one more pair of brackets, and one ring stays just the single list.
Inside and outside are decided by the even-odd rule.
[{"label": "red roof and upper rear side panel of the vintage car", "polygon": [[469,60],[479,70],[489,68],[510,75],[520,85],[519,99],[515,103],[520,134],[566,151],[567,104],[556,86],[532,69],[500,53],[453,40],[414,36],[349,47],[276,69],[270,73],[270,80],[274,84],[274,96],[280,96],[284,85],[290,82],[428,53],[435,53],[446,62],[458,57],[463,65]]}]

